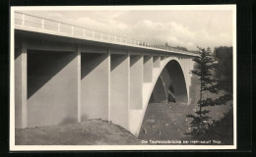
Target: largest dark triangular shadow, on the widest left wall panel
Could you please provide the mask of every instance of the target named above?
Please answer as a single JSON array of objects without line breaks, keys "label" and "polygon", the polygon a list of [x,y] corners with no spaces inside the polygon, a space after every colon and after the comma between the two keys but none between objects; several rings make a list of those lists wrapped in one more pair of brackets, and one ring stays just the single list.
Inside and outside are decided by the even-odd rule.
[{"label": "largest dark triangular shadow, on the widest left wall panel", "polygon": [[75,57],[76,54],[71,52],[29,50],[28,99]]}]

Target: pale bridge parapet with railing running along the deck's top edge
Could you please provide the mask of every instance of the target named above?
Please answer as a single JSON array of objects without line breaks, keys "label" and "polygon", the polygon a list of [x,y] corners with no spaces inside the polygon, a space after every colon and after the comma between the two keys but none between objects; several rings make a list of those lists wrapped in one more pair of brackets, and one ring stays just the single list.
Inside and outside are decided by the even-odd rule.
[{"label": "pale bridge parapet with railing running along the deck's top edge", "polygon": [[95,29],[75,26],[63,22],[58,22],[42,17],[29,15],[26,13],[15,12],[15,28],[22,30],[32,30],[37,32],[50,33],[54,35],[69,36],[92,41],[99,41],[111,44],[140,47],[144,49],[158,50],[162,52],[171,52],[189,56],[198,56],[195,53],[183,51],[177,48],[156,45],[150,42],[140,41],[137,39],[115,35],[98,31]]}]

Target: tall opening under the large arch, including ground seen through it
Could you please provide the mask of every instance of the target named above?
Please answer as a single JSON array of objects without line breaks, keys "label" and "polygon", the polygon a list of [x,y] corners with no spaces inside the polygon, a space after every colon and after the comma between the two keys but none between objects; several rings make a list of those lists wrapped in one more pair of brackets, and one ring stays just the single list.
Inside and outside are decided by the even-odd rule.
[{"label": "tall opening under the large arch, including ground seen through it", "polygon": [[[170,114],[173,105],[188,102],[183,71],[175,60],[169,61],[160,72],[146,108],[139,138],[161,139],[173,136]],[[173,110],[173,111],[171,111]],[[178,113],[176,113],[178,114]],[[175,127],[174,127],[175,128]]]}]

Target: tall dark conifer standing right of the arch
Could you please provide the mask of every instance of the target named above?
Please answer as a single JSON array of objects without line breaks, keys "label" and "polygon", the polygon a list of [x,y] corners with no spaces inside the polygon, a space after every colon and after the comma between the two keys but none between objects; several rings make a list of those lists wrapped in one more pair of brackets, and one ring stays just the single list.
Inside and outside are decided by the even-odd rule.
[{"label": "tall dark conifer standing right of the arch", "polygon": [[197,102],[199,110],[195,112],[196,115],[188,115],[187,117],[192,118],[190,125],[192,131],[190,133],[200,134],[209,131],[212,127],[209,123],[208,116],[209,110],[204,109],[207,106],[214,106],[216,101],[205,96],[207,92],[217,94],[219,90],[219,84],[216,78],[214,78],[213,72],[217,67],[217,61],[211,53],[211,49],[200,48],[199,57],[193,59],[196,62],[195,70],[191,71],[191,74],[196,75],[200,81],[200,98]]}]

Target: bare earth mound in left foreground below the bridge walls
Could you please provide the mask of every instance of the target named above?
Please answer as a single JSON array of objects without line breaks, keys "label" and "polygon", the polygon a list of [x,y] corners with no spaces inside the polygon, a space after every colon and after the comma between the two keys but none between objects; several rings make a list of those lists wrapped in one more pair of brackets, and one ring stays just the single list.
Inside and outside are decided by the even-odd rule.
[{"label": "bare earth mound in left foreground below the bridge walls", "polygon": [[102,120],[51,127],[16,129],[17,145],[129,145],[140,144],[130,131]]}]

